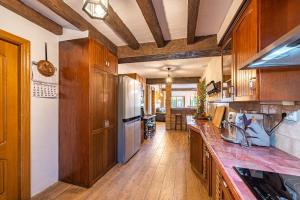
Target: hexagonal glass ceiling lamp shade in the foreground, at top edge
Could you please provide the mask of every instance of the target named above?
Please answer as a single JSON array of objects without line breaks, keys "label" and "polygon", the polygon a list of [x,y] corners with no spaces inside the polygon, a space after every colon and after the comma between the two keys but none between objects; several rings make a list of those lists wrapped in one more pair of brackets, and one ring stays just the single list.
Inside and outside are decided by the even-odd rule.
[{"label": "hexagonal glass ceiling lamp shade in the foreground, at top edge", "polygon": [[108,0],[84,0],[82,10],[93,19],[104,19],[108,14]]}]

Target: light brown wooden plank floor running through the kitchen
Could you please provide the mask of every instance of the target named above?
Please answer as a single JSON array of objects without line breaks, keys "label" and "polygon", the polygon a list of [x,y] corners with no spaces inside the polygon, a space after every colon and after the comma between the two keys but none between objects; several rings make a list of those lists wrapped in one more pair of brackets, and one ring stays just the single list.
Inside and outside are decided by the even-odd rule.
[{"label": "light brown wooden plank floor running through the kitchen", "polygon": [[191,170],[187,132],[165,131],[158,123],[152,140],[125,165],[116,165],[90,189],[56,183],[34,200],[208,199]]}]

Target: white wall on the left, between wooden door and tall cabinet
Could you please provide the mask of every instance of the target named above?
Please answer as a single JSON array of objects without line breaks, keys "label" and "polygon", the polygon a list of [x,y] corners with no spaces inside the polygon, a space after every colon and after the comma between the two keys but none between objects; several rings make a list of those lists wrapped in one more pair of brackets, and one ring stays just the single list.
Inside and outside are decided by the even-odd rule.
[{"label": "white wall on the left, between wooden door and tall cabinet", "polygon": [[[59,37],[0,6],[0,29],[31,42],[31,60],[45,58],[58,68]],[[74,33],[73,33],[74,34]],[[73,37],[74,35],[72,35]],[[68,37],[66,37],[68,38]],[[31,194],[58,180],[58,99],[31,98]]]}]

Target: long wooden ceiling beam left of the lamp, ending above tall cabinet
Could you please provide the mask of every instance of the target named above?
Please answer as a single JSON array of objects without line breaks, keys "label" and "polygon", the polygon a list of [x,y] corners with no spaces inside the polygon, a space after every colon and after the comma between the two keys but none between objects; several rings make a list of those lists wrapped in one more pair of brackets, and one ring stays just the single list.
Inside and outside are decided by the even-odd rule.
[{"label": "long wooden ceiling beam left of the lamp, ending above tall cabinet", "polygon": [[81,31],[89,31],[89,36],[106,46],[112,53],[117,54],[117,46],[100,33],[91,23],[77,13],[62,0],[38,0],[54,13],[74,25]]}]

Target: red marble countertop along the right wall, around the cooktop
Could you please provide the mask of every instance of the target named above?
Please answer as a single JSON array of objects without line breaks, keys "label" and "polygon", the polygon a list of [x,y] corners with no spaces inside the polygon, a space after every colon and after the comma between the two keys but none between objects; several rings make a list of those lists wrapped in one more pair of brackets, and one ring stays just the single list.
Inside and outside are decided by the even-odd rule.
[{"label": "red marble countertop along the right wall, around the cooktop", "polygon": [[241,147],[224,141],[221,129],[211,122],[188,122],[189,129],[200,133],[216,160],[230,190],[237,199],[256,199],[247,185],[233,169],[234,166],[250,169],[300,175],[300,159],[273,147]]}]

